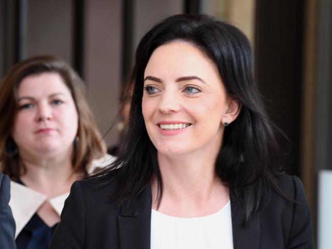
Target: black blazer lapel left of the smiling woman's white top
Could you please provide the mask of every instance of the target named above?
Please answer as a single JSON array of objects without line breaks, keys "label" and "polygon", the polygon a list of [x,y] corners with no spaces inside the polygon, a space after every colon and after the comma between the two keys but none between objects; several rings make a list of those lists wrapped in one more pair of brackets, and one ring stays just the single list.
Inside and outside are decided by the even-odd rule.
[{"label": "black blazer lapel left of the smiling woman's white top", "polygon": [[119,244],[121,249],[149,249],[151,227],[151,186],[148,186],[118,216]]}]

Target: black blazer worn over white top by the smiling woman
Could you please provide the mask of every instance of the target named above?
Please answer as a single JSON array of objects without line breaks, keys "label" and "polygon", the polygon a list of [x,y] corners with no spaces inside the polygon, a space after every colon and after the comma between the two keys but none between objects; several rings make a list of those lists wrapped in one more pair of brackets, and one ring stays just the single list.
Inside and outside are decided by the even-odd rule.
[{"label": "black blazer worn over white top by the smiling woman", "polygon": [[[302,204],[273,192],[267,207],[242,228],[231,195],[234,249],[314,248],[311,214],[300,179],[284,174],[277,180],[288,196]],[[96,189],[88,180],[73,184],[50,249],[150,248],[151,187],[135,204],[121,209],[107,198],[110,188]]]}]

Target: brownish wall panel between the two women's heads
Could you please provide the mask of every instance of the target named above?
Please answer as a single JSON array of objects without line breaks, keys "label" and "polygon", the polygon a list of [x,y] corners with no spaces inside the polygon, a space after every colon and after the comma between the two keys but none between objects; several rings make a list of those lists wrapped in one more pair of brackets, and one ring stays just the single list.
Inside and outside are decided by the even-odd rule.
[{"label": "brownish wall panel between the two women's heads", "polygon": [[[84,72],[88,101],[104,135],[119,108],[121,72],[121,1],[86,1]],[[106,135],[107,145],[117,141],[116,127]]]}]

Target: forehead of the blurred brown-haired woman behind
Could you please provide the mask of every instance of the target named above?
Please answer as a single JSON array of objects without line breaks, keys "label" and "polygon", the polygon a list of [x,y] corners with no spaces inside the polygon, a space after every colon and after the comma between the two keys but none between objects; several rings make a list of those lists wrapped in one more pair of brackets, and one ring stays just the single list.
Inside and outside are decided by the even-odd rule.
[{"label": "forehead of the blurred brown-haired woman behind", "polygon": [[17,88],[17,97],[42,97],[54,93],[70,94],[62,77],[58,73],[41,73],[23,78]]}]

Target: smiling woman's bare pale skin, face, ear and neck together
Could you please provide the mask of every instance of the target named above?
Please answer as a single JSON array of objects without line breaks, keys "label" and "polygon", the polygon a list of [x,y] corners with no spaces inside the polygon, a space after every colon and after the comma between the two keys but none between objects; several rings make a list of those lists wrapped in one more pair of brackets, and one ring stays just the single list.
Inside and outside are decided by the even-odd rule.
[{"label": "smiling woman's bare pale skin, face, ear and neck together", "polygon": [[240,104],[227,94],[216,65],[184,41],[157,48],[144,79],[143,117],[163,179],[158,207],[157,180],[152,178],[152,209],[183,218],[217,212],[229,201],[229,189],[214,163],[224,122],[237,118]]}]

